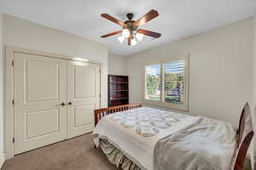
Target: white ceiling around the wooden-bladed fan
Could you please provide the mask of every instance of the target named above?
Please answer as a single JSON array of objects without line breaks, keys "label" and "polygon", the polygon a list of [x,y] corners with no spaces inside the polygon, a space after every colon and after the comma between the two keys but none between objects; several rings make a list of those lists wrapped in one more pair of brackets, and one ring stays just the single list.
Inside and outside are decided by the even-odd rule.
[{"label": "white ceiling around the wooden-bladed fan", "polygon": [[[119,55],[136,54],[247,19],[253,16],[255,7],[254,0],[0,0],[1,13],[102,42],[108,46],[109,53]],[[143,38],[136,46],[128,47],[118,42],[118,36],[100,37],[121,28],[100,14],[126,20],[125,14],[132,12],[137,20],[152,8],[160,16],[142,28],[162,33],[159,39]]]}]

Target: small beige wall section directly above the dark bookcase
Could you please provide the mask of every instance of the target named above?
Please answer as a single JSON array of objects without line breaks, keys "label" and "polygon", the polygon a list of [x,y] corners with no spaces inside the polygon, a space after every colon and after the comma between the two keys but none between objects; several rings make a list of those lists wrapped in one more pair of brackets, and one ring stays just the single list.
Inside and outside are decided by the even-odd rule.
[{"label": "small beige wall section directly above the dark bookcase", "polygon": [[127,57],[108,54],[108,74],[127,76]]}]

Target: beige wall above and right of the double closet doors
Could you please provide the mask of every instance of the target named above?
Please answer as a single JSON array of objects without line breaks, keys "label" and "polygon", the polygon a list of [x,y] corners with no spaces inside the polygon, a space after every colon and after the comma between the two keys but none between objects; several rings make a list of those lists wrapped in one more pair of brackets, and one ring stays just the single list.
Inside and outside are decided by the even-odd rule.
[{"label": "beige wall above and right of the double closet doors", "polygon": [[102,107],[108,105],[108,48],[101,43],[9,15],[3,15],[3,43],[101,62]]}]

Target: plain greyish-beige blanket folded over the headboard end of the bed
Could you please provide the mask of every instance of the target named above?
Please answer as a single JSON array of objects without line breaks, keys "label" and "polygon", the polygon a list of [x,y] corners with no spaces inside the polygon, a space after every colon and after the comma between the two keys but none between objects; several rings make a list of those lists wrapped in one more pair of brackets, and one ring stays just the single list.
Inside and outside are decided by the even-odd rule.
[{"label": "plain greyish-beige blanket folded over the headboard end of the bed", "polygon": [[195,123],[160,139],[154,147],[154,169],[230,170],[235,133],[226,122],[202,116]]}]

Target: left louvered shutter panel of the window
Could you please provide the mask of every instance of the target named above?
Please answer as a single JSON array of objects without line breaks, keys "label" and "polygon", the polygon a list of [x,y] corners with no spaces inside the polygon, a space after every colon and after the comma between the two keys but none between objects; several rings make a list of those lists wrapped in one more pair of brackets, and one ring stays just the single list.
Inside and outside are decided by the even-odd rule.
[{"label": "left louvered shutter panel of the window", "polygon": [[160,69],[160,64],[145,66],[145,99],[160,100]]}]

